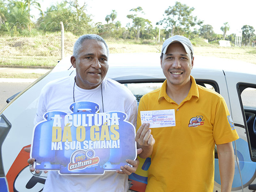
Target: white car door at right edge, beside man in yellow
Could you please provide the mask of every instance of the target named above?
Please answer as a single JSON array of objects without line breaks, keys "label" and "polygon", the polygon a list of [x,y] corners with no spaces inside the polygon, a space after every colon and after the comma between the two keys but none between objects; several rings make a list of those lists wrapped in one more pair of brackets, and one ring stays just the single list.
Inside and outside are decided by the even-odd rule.
[{"label": "white car door at right edge, beside man in yellow", "polygon": [[253,72],[255,73],[253,70],[247,70],[246,73],[225,72],[231,112],[239,134],[235,146],[236,183],[233,182],[233,185],[244,192],[256,190],[256,74]]}]

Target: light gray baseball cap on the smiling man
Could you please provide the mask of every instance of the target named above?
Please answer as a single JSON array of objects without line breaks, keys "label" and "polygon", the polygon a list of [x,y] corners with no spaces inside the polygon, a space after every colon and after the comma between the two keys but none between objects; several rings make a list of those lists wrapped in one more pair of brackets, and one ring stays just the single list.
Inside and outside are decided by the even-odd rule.
[{"label": "light gray baseball cap on the smiling man", "polygon": [[193,46],[190,40],[187,37],[175,35],[168,39],[166,39],[162,46],[162,53],[166,53],[166,50],[168,49],[169,45],[172,43],[180,43],[183,45],[185,51],[187,53],[192,53],[192,56],[194,55]]}]

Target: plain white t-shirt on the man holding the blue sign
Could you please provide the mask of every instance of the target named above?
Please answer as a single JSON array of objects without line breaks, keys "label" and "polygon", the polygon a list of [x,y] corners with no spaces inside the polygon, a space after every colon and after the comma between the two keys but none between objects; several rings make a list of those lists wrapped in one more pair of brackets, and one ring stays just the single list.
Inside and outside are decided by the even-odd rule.
[{"label": "plain white t-shirt on the man holding the blue sign", "polygon": [[[87,100],[98,103],[100,112],[103,112],[103,109],[104,112],[125,112],[127,121],[136,127],[137,102],[132,92],[124,85],[106,77],[102,82],[101,94],[101,85],[95,89],[84,90],[76,84],[74,87],[74,84],[74,76],[46,84],[39,97],[34,123],[43,121],[43,115],[47,111],[58,110],[70,113],[69,106],[75,98],[75,102]],[[43,191],[123,192],[128,188],[128,176],[113,171],[106,171],[104,175],[60,175],[56,171],[49,171]]]}]

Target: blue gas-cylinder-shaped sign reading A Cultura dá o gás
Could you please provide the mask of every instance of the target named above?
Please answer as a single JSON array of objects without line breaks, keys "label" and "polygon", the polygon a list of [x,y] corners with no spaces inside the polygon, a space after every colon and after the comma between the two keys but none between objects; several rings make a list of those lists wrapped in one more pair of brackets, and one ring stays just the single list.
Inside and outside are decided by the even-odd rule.
[{"label": "blue gas-cylinder-shaped sign reading A Cultura d\u00e1 o g\u00e1s", "polygon": [[79,101],[70,113],[49,111],[34,127],[30,157],[36,169],[60,174],[104,174],[137,157],[135,127],[120,111],[99,113],[100,106]]}]

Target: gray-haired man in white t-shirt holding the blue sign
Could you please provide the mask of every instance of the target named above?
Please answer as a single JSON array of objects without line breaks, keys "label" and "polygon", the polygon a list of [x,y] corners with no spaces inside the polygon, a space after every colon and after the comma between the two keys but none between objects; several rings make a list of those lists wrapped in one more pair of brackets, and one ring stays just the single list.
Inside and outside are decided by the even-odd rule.
[{"label": "gray-haired man in white t-shirt holding the blue sign", "polygon": [[[106,76],[108,71],[108,46],[98,35],[84,35],[77,39],[70,61],[76,68],[76,76],[54,80],[44,86],[39,97],[35,124],[43,121],[47,111],[69,112],[69,106],[77,101],[92,101],[100,105],[100,112],[122,111],[127,121],[136,126],[137,102],[125,86]],[[27,149],[28,151],[28,149]],[[138,154],[141,152],[138,149]],[[35,158],[28,159],[33,164]],[[45,181],[45,191],[127,191],[128,175],[135,172],[138,160],[127,160],[133,165],[121,166],[116,172],[103,175],[60,175],[50,171]],[[31,166],[30,171],[35,171]],[[36,170],[39,172],[39,170]]]}]

